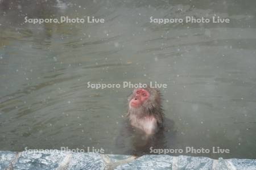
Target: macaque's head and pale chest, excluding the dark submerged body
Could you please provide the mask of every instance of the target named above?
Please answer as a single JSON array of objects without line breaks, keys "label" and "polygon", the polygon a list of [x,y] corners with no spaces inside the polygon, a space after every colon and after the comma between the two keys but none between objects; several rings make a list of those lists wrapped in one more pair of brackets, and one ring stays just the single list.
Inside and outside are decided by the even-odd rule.
[{"label": "macaque's head and pale chest, excluding the dark submerged body", "polygon": [[137,88],[129,96],[130,124],[142,130],[146,135],[152,135],[163,127],[163,110],[161,94],[155,88]]}]

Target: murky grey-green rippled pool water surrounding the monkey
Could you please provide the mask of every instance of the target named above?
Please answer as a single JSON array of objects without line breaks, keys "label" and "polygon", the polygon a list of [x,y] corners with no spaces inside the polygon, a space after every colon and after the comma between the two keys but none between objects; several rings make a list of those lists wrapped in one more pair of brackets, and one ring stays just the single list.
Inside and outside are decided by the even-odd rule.
[{"label": "murky grey-green rippled pool water surrounding the monkey", "polygon": [[[256,158],[255,1],[0,1],[0,150],[104,148],[119,136],[131,88],[166,83],[174,121],[167,148],[228,148]],[[24,23],[104,18],[105,23]],[[231,23],[154,24],[154,18],[230,18]]]}]

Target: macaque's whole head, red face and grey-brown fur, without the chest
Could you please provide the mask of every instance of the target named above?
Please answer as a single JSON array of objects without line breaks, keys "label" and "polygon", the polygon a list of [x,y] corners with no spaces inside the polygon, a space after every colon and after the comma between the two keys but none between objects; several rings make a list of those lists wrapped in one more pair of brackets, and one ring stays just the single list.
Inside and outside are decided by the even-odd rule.
[{"label": "macaque's whole head, red face and grey-brown fur, without the chest", "polygon": [[129,97],[129,108],[160,108],[160,92],[155,88],[135,88]]}]

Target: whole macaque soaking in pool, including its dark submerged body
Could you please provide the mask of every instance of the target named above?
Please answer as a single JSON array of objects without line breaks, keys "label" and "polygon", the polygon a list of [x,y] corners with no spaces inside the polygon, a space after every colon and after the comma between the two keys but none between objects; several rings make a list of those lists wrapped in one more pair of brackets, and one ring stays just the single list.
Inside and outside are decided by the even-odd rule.
[{"label": "whole macaque soaking in pool, including its dark submerged body", "polygon": [[164,117],[162,98],[156,88],[135,88],[128,97],[128,113],[116,139],[117,154],[150,154],[150,147],[174,143],[174,121]]}]

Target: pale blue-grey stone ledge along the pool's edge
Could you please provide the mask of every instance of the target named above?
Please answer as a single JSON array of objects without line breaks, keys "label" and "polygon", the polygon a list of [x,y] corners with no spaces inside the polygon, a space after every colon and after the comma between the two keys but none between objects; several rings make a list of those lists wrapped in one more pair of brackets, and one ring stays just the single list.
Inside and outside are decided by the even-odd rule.
[{"label": "pale blue-grey stone ledge along the pool's edge", "polygon": [[0,151],[2,169],[256,169],[255,159],[210,159],[206,157],[102,155],[65,151]]}]

